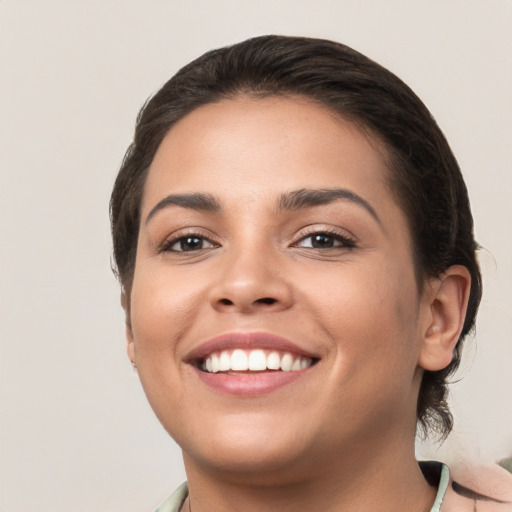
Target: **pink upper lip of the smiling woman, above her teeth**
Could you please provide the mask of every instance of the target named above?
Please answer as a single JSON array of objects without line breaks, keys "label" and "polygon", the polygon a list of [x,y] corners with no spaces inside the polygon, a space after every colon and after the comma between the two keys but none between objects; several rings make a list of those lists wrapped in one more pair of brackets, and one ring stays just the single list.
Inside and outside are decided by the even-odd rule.
[{"label": "pink upper lip of the smiling woman, above her teeth", "polygon": [[192,349],[185,359],[188,362],[194,362],[204,359],[213,352],[236,348],[278,350],[291,352],[292,354],[309,357],[311,359],[318,358],[313,352],[275,334],[268,332],[228,332],[201,343],[199,346]]}]

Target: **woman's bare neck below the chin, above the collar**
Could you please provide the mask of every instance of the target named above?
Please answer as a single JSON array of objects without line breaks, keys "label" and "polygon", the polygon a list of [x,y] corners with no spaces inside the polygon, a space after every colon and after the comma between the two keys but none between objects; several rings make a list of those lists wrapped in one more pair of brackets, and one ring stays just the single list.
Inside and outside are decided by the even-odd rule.
[{"label": "woman's bare neck below the chin, above the collar", "polygon": [[184,454],[191,512],[428,512],[436,489],[423,478],[414,444],[404,450],[399,441],[380,451],[357,446],[321,464],[308,458],[291,471],[267,467],[261,474],[205,468]]}]

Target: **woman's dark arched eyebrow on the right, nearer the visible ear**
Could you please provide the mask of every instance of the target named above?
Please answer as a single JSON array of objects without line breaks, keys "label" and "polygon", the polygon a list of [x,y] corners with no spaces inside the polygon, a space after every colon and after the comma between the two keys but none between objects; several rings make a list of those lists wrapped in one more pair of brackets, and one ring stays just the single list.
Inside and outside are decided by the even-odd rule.
[{"label": "woman's dark arched eyebrow on the right, nearer the visible ear", "polygon": [[299,190],[286,192],[279,198],[277,208],[285,211],[298,210],[333,203],[339,199],[362,206],[379,224],[381,224],[381,220],[373,206],[361,196],[345,188],[301,188]]}]

